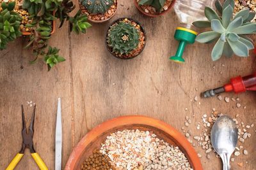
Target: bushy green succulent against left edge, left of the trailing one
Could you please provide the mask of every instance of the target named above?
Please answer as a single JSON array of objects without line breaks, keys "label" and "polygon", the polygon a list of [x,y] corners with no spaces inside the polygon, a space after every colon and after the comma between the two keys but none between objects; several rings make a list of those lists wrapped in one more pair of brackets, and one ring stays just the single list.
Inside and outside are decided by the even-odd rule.
[{"label": "bushy green succulent against left edge, left of the trailing one", "polygon": [[21,36],[19,31],[21,17],[13,11],[15,2],[2,3],[0,11],[0,50],[6,48],[8,42]]}]

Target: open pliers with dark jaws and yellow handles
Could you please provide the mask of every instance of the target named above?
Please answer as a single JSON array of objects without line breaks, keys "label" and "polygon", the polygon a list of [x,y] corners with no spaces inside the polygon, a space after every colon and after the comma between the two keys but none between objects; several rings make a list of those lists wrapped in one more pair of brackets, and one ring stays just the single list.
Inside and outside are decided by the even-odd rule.
[{"label": "open pliers with dark jaws and yellow handles", "polygon": [[6,170],[13,170],[15,166],[20,162],[20,159],[22,159],[25,149],[29,148],[31,156],[35,160],[37,166],[41,170],[48,170],[47,166],[45,165],[44,161],[41,159],[41,157],[36,153],[34,144],[33,144],[33,135],[34,135],[34,120],[35,120],[35,112],[36,112],[36,106],[33,107],[33,114],[31,117],[31,122],[29,125],[29,131],[27,131],[26,128],[26,122],[25,122],[25,116],[24,116],[24,108],[23,105],[21,105],[21,112],[22,112],[22,147],[19,153],[13,158],[12,162],[9,164],[8,167],[6,167]]}]

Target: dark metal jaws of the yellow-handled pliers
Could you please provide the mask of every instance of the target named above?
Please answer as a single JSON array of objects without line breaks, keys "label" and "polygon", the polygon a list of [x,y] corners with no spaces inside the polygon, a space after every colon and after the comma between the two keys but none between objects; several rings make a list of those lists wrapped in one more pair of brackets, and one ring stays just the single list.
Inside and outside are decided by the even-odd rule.
[{"label": "dark metal jaws of the yellow-handled pliers", "polygon": [[36,106],[33,107],[33,113],[31,116],[31,122],[29,125],[29,130],[27,131],[26,128],[26,120],[25,120],[25,114],[24,114],[24,108],[23,105],[21,105],[22,110],[22,147],[19,153],[24,153],[26,148],[29,148],[30,153],[35,153],[35,148],[33,144],[33,135],[34,135],[34,122],[35,122],[35,112],[36,112]]}]

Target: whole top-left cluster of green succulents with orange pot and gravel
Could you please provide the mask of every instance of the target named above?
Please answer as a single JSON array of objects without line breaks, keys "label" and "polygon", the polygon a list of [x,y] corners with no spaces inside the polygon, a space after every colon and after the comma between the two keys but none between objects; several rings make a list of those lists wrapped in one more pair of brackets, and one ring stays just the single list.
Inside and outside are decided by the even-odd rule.
[{"label": "whole top-left cluster of green succulents with orange pot and gravel", "polygon": [[[85,33],[91,25],[86,22],[87,16],[78,11],[74,17],[68,13],[74,10],[71,0],[16,0],[8,3],[1,3],[0,9],[0,50],[6,48],[8,42],[18,36],[29,36],[25,48],[31,49],[35,60],[44,60],[48,70],[65,59],[59,54],[56,47],[48,45],[48,40],[54,32],[55,20],[60,20],[60,27],[67,20],[71,31],[77,34]],[[19,26],[18,26],[19,25]]]}]

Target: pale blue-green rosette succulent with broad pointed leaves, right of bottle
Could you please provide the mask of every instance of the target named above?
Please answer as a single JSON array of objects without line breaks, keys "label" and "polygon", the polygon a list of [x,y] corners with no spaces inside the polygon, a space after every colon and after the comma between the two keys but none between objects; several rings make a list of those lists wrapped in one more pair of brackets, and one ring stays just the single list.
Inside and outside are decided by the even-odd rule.
[{"label": "pale blue-green rosette succulent with broad pointed leaves, right of bottle", "polygon": [[217,0],[215,6],[218,12],[205,7],[205,17],[208,21],[193,23],[196,27],[211,27],[212,30],[199,34],[196,41],[212,43],[218,39],[212,49],[212,60],[220,59],[221,55],[231,57],[234,53],[239,57],[247,57],[249,50],[253,49],[253,43],[246,34],[256,32],[256,23],[250,22],[255,13],[246,9],[239,11],[233,17],[234,0],[226,0],[223,5]]}]

